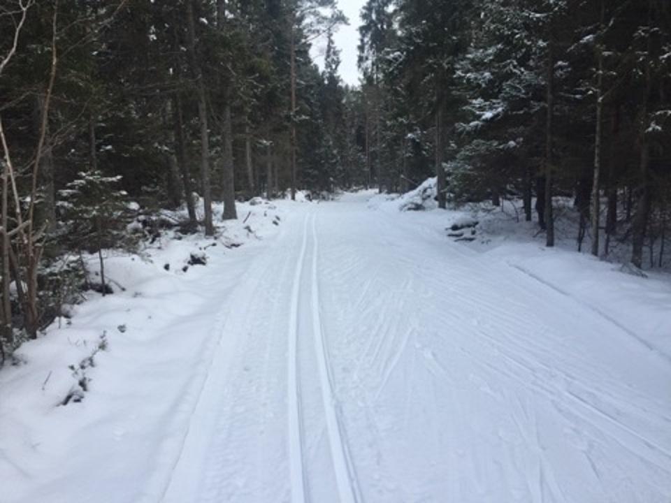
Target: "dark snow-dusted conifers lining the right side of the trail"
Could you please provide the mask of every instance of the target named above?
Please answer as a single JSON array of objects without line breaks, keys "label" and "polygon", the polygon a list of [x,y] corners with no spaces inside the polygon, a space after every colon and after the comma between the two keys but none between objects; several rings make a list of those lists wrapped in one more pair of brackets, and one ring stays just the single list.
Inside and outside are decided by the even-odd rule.
[{"label": "dark snow-dusted conifers lining the right side of the trail", "polygon": [[369,0],[362,17],[366,166],[380,189],[433,173],[440,207],[519,197],[548,246],[558,197],[571,197],[579,247],[589,235],[604,255],[617,240],[637,267],[645,249],[661,265],[670,2]]}]

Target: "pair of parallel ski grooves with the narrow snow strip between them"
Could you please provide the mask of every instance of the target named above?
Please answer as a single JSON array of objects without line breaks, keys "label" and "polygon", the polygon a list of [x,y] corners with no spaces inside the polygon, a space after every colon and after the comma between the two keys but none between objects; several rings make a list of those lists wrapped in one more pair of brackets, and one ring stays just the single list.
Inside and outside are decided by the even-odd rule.
[{"label": "pair of parallel ski grooves with the narrow snow strip between them", "polygon": [[[354,503],[356,478],[349,461],[347,444],[343,440],[322,330],[317,269],[319,245],[315,221],[315,214],[305,216],[301,252],[296,261],[291,289],[287,353],[291,502],[328,500],[333,497],[324,492],[324,487],[328,487],[335,489],[334,501]],[[310,247],[308,242],[311,242]],[[311,256],[306,260],[308,248]],[[310,342],[314,344],[314,351],[311,351]],[[317,388],[315,382],[319,385]],[[317,403],[319,397],[322,410],[319,410]],[[315,439],[322,437],[324,428],[328,442],[326,446],[314,448],[322,458],[315,465],[319,466],[322,462],[326,463],[327,468],[315,471],[312,462],[308,462],[310,453],[304,453],[304,450],[314,445]]]}]

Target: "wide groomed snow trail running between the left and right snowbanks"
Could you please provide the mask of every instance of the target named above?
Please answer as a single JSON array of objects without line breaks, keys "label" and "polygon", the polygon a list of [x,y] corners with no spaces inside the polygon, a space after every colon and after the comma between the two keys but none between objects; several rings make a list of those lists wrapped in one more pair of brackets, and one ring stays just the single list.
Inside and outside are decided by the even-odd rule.
[{"label": "wide groomed snow trail running between the left and right snowbanks", "polygon": [[[187,384],[147,395],[170,404],[147,446],[115,440],[96,453],[105,463],[80,465],[86,493],[54,479],[26,494],[671,501],[671,365],[641,344],[626,312],[604,316],[517,265],[449,242],[420,215],[368,209],[365,196],[288,207],[271,242],[226,262],[226,274],[212,270],[198,324],[180,322],[189,337],[207,328],[210,342],[182,366],[192,374],[175,376]],[[131,448],[156,451],[149,479],[124,472]],[[108,467],[127,493],[82,496]]]}]

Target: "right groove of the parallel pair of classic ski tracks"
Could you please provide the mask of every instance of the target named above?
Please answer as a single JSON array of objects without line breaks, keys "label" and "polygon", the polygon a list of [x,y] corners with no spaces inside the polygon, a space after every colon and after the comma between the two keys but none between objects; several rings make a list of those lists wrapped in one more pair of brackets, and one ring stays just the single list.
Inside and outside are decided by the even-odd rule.
[{"label": "right groove of the parallel pair of classic ski tracks", "polygon": [[321,306],[319,305],[319,282],[317,281],[317,253],[319,244],[317,240],[316,216],[312,217],[312,331],[315,338],[315,353],[317,354],[317,365],[319,367],[319,384],[324,400],[324,415],[326,416],[326,429],[331,449],[331,461],[335,482],[338,486],[340,503],[355,503],[356,498],[356,474],[352,461],[349,458],[347,445],[342,440],[340,420],[338,418],[338,404],[333,395],[333,377],[331,375],[329,356],[326,352],[324,342],[324,330],[322,329]]}]

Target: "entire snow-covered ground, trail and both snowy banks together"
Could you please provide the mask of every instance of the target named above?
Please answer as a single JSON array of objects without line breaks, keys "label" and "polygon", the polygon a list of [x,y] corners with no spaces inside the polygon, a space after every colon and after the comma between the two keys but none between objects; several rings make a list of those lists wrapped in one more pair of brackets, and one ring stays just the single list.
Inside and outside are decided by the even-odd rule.
[{"label": "entire snow-covered ground, trail and both snowy banks together", "polygon": [[669,503],[669,277],[417,197],[109,258],[0,372],[0,502]]}]

